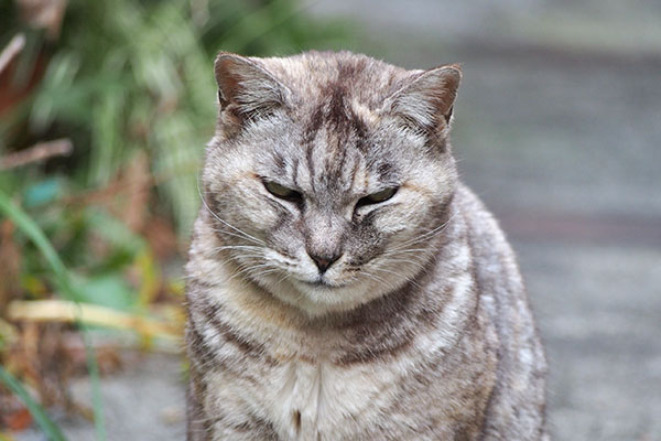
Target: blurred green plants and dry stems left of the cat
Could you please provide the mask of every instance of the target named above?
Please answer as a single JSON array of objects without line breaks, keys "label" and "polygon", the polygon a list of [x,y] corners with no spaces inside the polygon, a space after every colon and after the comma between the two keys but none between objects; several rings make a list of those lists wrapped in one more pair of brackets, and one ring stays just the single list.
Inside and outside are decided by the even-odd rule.
[{"label": "blurred green plants and dry stems left of the cat", "polygon": [[[0,2],[0,52],[21,35],[18,54],[4,65],[0,56],[6,367],[21,345],[14,321],[26,318],[8,311],[15,315],[25,301],[74,301],[83,320],[112,310],[91,321],[133,326],[143,344],[181,327],[181,313],[162,303],[181,303],[182,283],[163,267],[183,249],[199,204],[197,170],[216,119],[215,54],[282,55],[348,42],[345,24],[303,12],[296,0]],[[6,377],[22,394],[21,378]]]}]

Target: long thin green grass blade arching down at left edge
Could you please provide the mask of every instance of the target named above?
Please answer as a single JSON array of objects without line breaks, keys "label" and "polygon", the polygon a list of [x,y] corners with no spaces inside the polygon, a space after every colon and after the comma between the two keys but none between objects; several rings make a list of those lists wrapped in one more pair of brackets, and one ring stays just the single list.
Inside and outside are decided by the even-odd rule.
[{"label": "long thin green grass blade arching down at left edge", "polygon": [[[0,213],[9,217],[40,249],[51,269],[55,273],[57,284],[62,292],[69,299],[77,303],[80,295],[78,295],[71,281],[68,270],[66,269],[62,259],[57,255],[57,251],[41,228],[14,203],[11,202],[9,196],[3,192],[0,192]],[[87,329],[82,325],[78,321],[78,327],[83,333],[83,340],[85,342],[85,351],[87,354],[87,369],[89,372],[89,380],[91,383],[91,402],[94,408],[94,421],[97,432],[98,441],[106,441],[106,429],[104,426],[104,408],[101,402],[101,388],[99,380],[99,369],[97,365],[96,355],[94,348],[90,345]],[[31,409],[32,410],[32,409]],[[34,416],[35,419],[37,418]]]}]

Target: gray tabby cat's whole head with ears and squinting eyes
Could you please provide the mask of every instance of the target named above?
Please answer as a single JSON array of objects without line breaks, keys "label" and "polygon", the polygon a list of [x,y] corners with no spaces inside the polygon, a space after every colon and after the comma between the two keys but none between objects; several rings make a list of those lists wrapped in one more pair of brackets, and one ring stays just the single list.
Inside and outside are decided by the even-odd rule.
[{"label": "gray tabby cat's whole head with ears and squinting eyes", "polygon": [[216,60],[218,129],[204,170],[218,259],[310,314],[424,271],[457,185],[457,66],[364,55]]}]

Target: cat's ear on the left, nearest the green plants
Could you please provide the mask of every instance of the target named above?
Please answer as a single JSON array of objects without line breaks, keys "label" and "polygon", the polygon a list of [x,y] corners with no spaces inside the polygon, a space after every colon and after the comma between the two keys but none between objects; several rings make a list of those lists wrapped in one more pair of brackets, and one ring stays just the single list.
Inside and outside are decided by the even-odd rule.
[{"label": "cat's ear on the left, nearest the green plants", "polygon": [[218,103],[230,123],[259,119],[285,103],[286,86],[254,58],[220,52],[215,73]]}]

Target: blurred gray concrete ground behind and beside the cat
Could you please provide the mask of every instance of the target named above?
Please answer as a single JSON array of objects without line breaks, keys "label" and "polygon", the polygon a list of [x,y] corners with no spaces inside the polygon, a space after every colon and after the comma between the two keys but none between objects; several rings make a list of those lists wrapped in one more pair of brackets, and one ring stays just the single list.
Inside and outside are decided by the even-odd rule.
[{"label": "blurred gray concrete ground behind and beside the cat", "polygon": [[[464,63],[455,153],[519,254],[551,365],[553,439],[661,440],[659,3],[322,0],[310,11],[350,18],[364,30],[353,50],[408,67]],[[110,440],[183,439],[175,357],[105,379],[104,394]],[[94,439],[82,421],[65,427]]]}]

